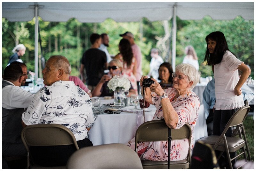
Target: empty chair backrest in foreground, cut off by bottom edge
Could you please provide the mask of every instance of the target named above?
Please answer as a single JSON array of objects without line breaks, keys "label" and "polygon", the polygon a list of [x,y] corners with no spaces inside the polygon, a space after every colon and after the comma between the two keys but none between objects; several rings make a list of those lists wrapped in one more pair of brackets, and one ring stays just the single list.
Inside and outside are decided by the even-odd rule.
[{"label": "empty chair backrest in foreground, cut off by bottom edge", "polygon": [[124,144],[84,147],[68,159],[68,169],[142,169],[139,156]]}]

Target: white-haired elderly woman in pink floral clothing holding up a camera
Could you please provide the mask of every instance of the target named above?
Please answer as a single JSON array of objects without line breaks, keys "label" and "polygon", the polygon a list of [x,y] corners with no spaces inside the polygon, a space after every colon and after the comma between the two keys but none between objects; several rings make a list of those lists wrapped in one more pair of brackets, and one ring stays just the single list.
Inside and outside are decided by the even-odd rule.
[{"label": "white-haired elderly woman in pink floral clothing holding up a camera", "polygon": [[[153,120],[163,119],[172,129],[180,129],[188,123],[192,129],[191,147],[194,144],[194,128],[198,118],[199,98],[191,91],[200,79],[200,72],[190,64],[179,64],[175,68],[173,88],[162,89],[153,78],[152,83],[145,89],[145,100],[156,106]],[[142,76],[140,86],[147,76]],[[188,154],[188,139],[171,141],[171,161],[183,160]],[[134,148],[134,139],[127,144]],[[144,160],[168,160],[168,141],[140,142],[138,154]]]}]

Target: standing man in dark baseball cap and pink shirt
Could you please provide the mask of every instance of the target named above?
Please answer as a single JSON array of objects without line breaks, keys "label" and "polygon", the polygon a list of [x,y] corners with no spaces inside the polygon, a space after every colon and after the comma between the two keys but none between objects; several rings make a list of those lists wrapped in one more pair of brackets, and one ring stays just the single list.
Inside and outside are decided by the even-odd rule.
[{"label": "standing man in dark baseball cap and pink shirt", "polygon": [[140,47],[135,44],[134,36],[131,32],[125,32],[124,34],[119,34],[119,36],[123,37],[124,39],[129,40],[129,42],[131,43],[132,53],[133,53],[134,58],[137,61],[137,68],[136,68],[137,73],[135,74],[135,76],[136,76],[136,80],[137,80],[138,93],[139,93],[140,92],[140,78],[142,75],[142,69],[141,69],[142,56],[141,56]]}]

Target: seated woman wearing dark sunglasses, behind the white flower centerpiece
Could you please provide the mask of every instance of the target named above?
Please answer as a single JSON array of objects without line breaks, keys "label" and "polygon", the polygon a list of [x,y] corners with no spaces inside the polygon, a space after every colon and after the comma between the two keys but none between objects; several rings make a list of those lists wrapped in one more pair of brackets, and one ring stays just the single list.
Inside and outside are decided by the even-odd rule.
[{"label": "seated woman wearing dark sunglasses, behind the white flower centerpiece", "polygon": [[[121,75],[122,73],[122,62],[118,59],[113,59],[108,64],[108,75],[103,75],[100,79],[100,82],[97,84],[95,89],[92,91],[92,96],[114,96],[114,92],[109,92],[108,81],[115,75]],[[128,96],[135,95],[136,91],[133,89],[132,85],[129,89]]]}]

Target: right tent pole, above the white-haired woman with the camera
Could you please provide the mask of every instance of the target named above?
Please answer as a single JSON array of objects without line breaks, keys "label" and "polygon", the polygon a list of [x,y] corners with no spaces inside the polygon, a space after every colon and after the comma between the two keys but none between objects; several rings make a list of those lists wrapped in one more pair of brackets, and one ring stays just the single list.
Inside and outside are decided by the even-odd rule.
[{"label": "right tent pole, above the white-haired woman with the camera", "polygon": [[172,15],[172,69],[175,72],[175,62],[176,62],[176,32],[177,32],[177,5],[173,5],[173,15]]}]

